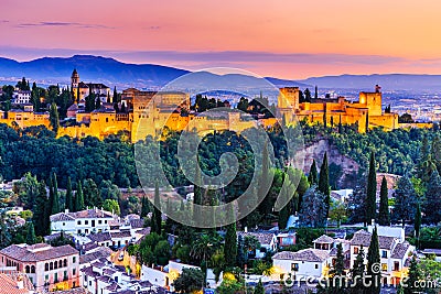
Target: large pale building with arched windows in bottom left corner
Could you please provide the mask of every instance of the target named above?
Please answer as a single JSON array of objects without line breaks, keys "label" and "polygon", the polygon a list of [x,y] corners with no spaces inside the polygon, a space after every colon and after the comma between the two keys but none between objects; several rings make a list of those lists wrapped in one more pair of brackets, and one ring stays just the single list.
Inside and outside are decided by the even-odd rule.
[{"label": "large pale building with arched windows in bottom left corner", "polygon": [[12,244],[0,250],[0,268],[25,273],[36,291],[78,286],[79,253],[71,246]]}]

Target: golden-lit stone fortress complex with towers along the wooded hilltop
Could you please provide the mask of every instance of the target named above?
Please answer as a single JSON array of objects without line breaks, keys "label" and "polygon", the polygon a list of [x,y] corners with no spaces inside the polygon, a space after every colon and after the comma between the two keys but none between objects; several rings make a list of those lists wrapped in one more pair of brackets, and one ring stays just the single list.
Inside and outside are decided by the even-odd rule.
[{"label": "golden-lit stone fortress complex with towers along the wooded hilltop", "polygon": [[[71,123],[60,127],[57,137],[68,135],[84,138],[87,135],[104,139],[109,134],[126,132],[131,142],[155,137],[164,127],[172,131],[197,130],[241,130],[256,126],[270,127],[275,118],[257,118],[250,120],[239,111],[224,111],[209,116],[190,111],[190,95],[181,91],[141,91],[129,88],[122,91],[118,111],[109,102],[110,88],[103,84],[80,81],[76,70],[72,74],[74,104],[67,109]],[[85,111],[86,97],[94,92],[101,100],[100,107],[90,112]],[[153,98],[154,97],[154,98]],[[23,99],[25,100],[25,99]],[[33,111],[32,105],[23,102],[22,108],[0,113],[0,123],[11,127],[26,128],[41,126],[50,128],[47,112]],[[359,92],[358,101],[349,101],[344,97],[335,99],[318,98],[311,102],[300,102],[298,87],[286,87],[279,91],[277,111],[284,123],[305,120],[309,123],[355,124],[359,132],[368,128],[381,127],[385,130],[398,128],[398,115],[381,109],[381,90],[376,86],[373,92]],[[72,123],[74,121],[74,123]]]}]

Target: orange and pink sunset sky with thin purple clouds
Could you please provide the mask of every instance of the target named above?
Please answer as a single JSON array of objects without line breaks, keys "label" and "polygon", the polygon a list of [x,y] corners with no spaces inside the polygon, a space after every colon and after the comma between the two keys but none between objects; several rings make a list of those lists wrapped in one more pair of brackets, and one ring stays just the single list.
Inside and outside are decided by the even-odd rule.
[{"label": "orange and pink sunset sky with thin purple clouds", "polygon": [[94,54],[261,76],[441,74],[439,0],[0,0],[0,56]]}]

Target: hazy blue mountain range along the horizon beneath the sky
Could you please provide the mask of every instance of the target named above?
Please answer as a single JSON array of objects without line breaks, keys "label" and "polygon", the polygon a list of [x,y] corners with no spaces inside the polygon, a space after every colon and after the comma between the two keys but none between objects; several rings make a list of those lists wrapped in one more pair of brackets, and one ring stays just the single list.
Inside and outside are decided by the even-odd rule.
[{"label": "hazy blue mountain range along the horizon beneath the sky", "polygon": [[[0,57],[0,79],[13,81],[25,76],[40,84],[69,84],[72,70],[76,68],[80,79],[85,81],[99,81],[119,87],[157,88],[162,87],[182,77],[190,70],[161,66],[154,64],[127,64],[114,58],[75,55],[72,57],[43,57],[30,62],[17,62]],[[218,75],[212,73],[197,73],[201,84],[212,83],[213,86],[244,86],[252,87],[259,78],[229,74]],[[279,79],[266,77],[277,87],[297,86],[311,90],[316,85],[319,88],[334,89],[374,89],[376,84],[385,90],[413,90],[433,91],[441,90],[441,75],[411,75],[411,74],[385,74],[385,75],[341,75],[311,77],[303,80]],[[261,83],[261,81],[259,81]]]}]

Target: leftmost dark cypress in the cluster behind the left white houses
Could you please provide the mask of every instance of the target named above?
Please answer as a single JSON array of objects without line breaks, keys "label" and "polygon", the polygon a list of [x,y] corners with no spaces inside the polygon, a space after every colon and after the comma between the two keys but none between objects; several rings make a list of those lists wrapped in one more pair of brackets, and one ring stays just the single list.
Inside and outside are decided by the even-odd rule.
[{"label": "leftmost dark cypress in the cluster behind the left white houses", "polygon": [[39,185],[39,195],[36,196],[34,208],[32,209],[32,221],[34,222],[35,233],[37,236],[46,236],[50,226],[50,214],[47,214],[49,199],[46,184],[42,181]]}]

